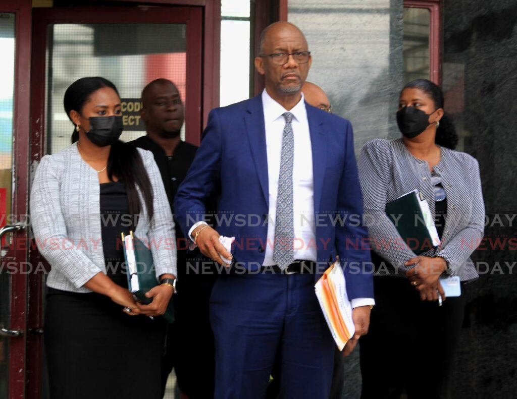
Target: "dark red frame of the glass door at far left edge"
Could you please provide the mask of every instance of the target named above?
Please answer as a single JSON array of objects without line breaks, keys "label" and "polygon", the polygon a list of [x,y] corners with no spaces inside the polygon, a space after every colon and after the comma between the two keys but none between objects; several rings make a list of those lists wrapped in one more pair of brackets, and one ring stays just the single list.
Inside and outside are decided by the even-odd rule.
[{"label": "dark red frame of the glass door at far left edge", "polygon": [[[29,152],[29,99],[31,47],[31,1],[16,2],[0,0],[0,12],[14,13],[15,59],[14,59],[14,96],[13,96],[13,188],[12,214],[19,217],[27,213],[28,163]],[[9,399],[22,399],[25,394],[25,354],[27,327],[27,275],[23,273],[20,262],[26,262],[27,251],[16,245],[18,239],[27,238],[26,231],[16,233],[15,245],[2,259],[16,262],[18,269],[11,273],[11,322],[5,326],[11,330],[22,330],[24,334],[13,337],[9,342]]]}]

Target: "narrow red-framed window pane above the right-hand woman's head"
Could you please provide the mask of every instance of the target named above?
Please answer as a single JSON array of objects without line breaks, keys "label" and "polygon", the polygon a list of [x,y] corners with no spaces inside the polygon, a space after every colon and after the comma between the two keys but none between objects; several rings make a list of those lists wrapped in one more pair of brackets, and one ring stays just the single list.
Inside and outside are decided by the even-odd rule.
[{"label": "narrow red-framed window pane above the right-hand woman's head", "polygon": [[404,8],[404,83],[429,79],[429,22],[427,8]]}]

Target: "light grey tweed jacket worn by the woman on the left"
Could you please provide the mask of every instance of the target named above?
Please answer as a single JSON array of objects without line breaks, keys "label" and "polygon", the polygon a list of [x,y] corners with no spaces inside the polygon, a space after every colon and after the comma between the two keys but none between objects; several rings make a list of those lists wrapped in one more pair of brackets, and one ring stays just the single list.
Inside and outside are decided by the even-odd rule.
[{"label": "light grey tweed jacket worn by the woman on the left", "polygon": [[[149,175],[154,217],[142,210],[134,235],[151,249],[157,276],[176,273],[176,240],[163,181],[151,152],[138,149]],[[49,287],[87,293],[83,285],[106,273],[102,248],[100,186],[96,171],[84,162],[77,145],[45,155],[36,170],[31,192],[31,220],[38,249],[51,265]]]}]

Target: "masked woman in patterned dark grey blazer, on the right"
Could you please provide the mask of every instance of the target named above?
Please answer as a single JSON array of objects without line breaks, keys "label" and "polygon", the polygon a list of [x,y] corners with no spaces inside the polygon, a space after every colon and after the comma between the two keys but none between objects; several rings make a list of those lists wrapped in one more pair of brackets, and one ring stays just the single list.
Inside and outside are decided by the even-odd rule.
[{"label": "masked woman in patterned dark grey blazer, on the right", "polygon": [[[464,312],[464,295],[445,298],[439,278],[478,277],[470,254],[483,237],[478,162],[454,151],[442,90],[428,80],[400,94],[402,137],[368,142],[359,158],[364,213],[375,264],[370,330],[360,339],[362,399],[448,397],[448,382]],[[441,243],[417,256],[385,213],[386,204],[418,190],[428,201]],[[365,216],[366,218],[366,216]]]}]

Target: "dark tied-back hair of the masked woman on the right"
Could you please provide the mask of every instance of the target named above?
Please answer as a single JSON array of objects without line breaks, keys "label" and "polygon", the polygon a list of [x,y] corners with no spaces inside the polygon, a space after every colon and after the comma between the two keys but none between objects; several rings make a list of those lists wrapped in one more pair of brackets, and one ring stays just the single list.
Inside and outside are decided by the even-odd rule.
[{"label": "dark tied-back hair of the masked woman on the right", "polygon": [[[433,82],[427,79],[417,79],[406,84],[402,91],[404,91],[406,88],[416,88],[422,90],[434,101],[434,106],[436,109],[444,108],[444,93],[442,89],[440,89],[439,86]],[[440,119],[440,124],[438,129],[436,129],[436,137],[434,142],[442,147],[447,147],[450,149],[454,149],[458,145],[458,133],[456,133],[456,128],[454,127],[452,118],[445,112],[445,109],[444,116],[442,116],[442,119]]]}]

